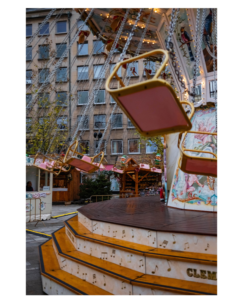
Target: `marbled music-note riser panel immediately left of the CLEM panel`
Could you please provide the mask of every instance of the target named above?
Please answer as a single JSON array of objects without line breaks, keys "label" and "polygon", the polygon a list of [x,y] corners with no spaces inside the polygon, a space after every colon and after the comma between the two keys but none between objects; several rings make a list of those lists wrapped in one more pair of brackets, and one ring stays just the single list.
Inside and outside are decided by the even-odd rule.
[{"label": "marbled music-note riser panel immediately left of the CLEM panel", "polygon": [[128,251],[114,249],[83,239],[77,239],[77,250],[100,259],[145,273],[145,257]]}]

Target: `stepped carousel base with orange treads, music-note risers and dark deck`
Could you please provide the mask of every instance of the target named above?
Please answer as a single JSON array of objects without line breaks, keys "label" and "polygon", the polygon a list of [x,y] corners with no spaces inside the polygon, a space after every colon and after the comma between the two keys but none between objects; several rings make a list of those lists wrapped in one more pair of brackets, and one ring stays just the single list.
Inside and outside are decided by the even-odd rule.
[{"label": "stepped carousel base with orange treads, music-note risers and dark deck", "polygon": [[[145,209],[146,212],[173,209],[160,205],[156,199],[159,201],[151,197],[119,199],[119,203],[105,201],[78,209],[78,215],[64,222],[65,227],[52,233],[52,240],[39,246],[43,291],[58,295],[216,295],[217,255],[208,252],[215,240],[216,246],[217,236],[210,232],[198,234],[198,228],[196,233],[159,231],[156,225],[154,230],[147,230],[149,222],[139,228],[141,224],[136,216]],[[143,210],[139,213],[138,209]],[[157,216],[153,215],[154,223],[158,218],[161,224],[163,220],[158,210]],[[114,218],[108,222],[114,212],[121,218],[125,214],[135,215],[133,225],[127,226],[125,220],[122,224],[114,223]],[[196,216],[183,212],[188,220]],[[200,217],[202,212],[196,213]],[[105,214],[104,222],[101,219]],[[183,222],[185,219],[179,214],[176,220]],[[159,233],[170,235],[158,241]],[[180,240],[183,236],[185,238]],[[188,236],[192,238],[185,242]],[[189,251],[194,240],[197,245],[201,243],[199,252]],[[170,249],[177,243],[179,248],[183,243],[182,250]]]}]

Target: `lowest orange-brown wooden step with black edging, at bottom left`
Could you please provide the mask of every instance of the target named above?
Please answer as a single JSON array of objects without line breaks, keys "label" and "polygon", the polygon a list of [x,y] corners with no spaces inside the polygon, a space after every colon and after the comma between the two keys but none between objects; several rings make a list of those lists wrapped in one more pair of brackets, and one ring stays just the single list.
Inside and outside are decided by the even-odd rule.
[{"label": "lowest orange-brown wooden step with black edging, at bottom left", "polygon": [[[52,240],[39,246],[39,258],[41,275],[76,295],[112,295],[110,292],[61,270],[52,246]],[[46,290],[43,289],[43,291]]]}]

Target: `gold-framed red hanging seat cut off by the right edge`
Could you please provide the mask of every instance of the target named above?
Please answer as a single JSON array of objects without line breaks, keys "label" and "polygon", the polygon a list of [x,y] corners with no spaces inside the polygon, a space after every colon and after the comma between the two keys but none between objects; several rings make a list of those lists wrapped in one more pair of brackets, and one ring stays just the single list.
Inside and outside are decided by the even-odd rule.
[{"label": "gold-framed red hanging seat cut off by the right edge", "polygon": [[[187,133],[205,134],[217,136],[217,133],[200,132],[200,131],[187,131],[180,134],[178,140],[178,148],[180,149],[180,158],[178,160],[179,168],[189,174],[200,174],[212,177],[217,177],[217,155],[210,151],[205,150],[191,150],[186,149],[185,139]],[[199,156],[192,155],[194,152],[200,154]],[[204,155],[204,156],[201,156]],[[207,157],[205,156],[207,155]]]}]

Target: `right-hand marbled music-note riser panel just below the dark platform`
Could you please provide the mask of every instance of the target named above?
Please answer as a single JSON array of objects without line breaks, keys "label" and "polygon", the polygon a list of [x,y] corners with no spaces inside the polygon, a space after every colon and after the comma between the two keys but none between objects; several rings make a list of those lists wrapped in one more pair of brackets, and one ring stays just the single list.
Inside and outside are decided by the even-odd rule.
[{"label": "right-hand marbled music-note riser panel just below the dark platform", "polygon": [[157,237],[157,247],[161,249],[217,254],[217,237],[214,236],[158,231]]}]

